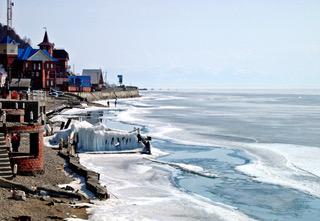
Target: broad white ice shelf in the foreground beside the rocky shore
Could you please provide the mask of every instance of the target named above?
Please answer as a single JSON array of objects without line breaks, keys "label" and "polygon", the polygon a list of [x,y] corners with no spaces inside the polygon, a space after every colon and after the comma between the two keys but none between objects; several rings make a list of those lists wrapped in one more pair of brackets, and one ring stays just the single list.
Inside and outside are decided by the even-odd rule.
[{"label": "broad white ice shelf in the foreground beside the rocky shore", "polygon": [[[86,157],[83,158],[83,156],[88,156],[93,160],[91,163],[86,162]],[[153,156],[153,158],[156,157]],[[98,163],[99,161],[101,164]],[[169,220],[175,216],[178,216],[180,220],[210,219],[212,217],[215,220],[226,220],[228,214],[227,220],[233,220],[232,218],[252,220],[239,212],[237,208],[182,191],[170,181],[172,172],[176,171],[172,166],[159,166],[156,162],[144,159],[144,156],[140,154],[83,153],[80,154],[80,163],[101,174],[102,185],[108,186],[111,196],[105,202],[95,202],[94,206],[88,209],[92,219],[105,220],[100,217],[110,217],[111,214],[108,220],[117,220],[117,218]],[[159,184],[161,185],[158,186]],[[159,209],[154,210],[153,208]],[[128,216],[128,213],[131,215]],[[112,217],[116,218],[112,219]]]}]

